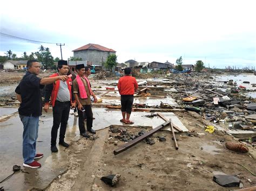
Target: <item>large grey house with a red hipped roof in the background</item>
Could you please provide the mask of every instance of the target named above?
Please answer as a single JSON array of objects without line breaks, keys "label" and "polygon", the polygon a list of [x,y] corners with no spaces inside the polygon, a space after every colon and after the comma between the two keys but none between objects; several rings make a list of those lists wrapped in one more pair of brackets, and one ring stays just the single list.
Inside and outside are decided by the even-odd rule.
[{"label": "large grey house with a red hipped roof in the background", "polygon": [[108,55],[116,54],[116,51],[113,49],[97,44],[87,44],[74,49],[72,52],[75,58],[82,58],[83,60],[90,61],[92,65],[98,66],[102,66],[103,62],[106,62]]}]

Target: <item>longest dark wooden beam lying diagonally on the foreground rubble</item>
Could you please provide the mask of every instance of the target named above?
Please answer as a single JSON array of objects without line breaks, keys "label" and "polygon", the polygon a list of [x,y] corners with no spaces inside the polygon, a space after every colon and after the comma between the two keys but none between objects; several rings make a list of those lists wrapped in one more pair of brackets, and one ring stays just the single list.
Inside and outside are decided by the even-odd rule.
[{"label": "longest dark wooden beam lying diagonally on the foreground rubble", "polygon": [[156,128],[152,129],[149,132],[146,132],[144,135],[133,139],[131,142],[124,144],[123,146],[117,148],[117,150],[114,150],[114,155],[117,155],[119,153],[122,153],[123,151],[126,151],[128,148],[138,144],[139,142],[141,142],[142,140],[144,140],[147,137],[150,137],[151,135],[153,135],[155,132],[159,131],[161,128],[164,128],[166,125],[169,125],[170,122],[165,122],[159,126],[157,126]]}]

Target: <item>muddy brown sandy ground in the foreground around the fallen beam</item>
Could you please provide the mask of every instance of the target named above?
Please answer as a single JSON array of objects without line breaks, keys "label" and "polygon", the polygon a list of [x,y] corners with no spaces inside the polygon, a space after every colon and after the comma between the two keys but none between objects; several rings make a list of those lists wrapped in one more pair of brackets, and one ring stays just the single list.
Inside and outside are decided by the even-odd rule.
[{"label": "muddy brown sandy ground in the foreground around the fallen beam", "polygon": [[[46,190],[228,190],[213,182],[213,171],[238,174],[245,187],[256,184],[255,149],[240,154],[227,150],[224,144],[233,140],[221,132],[207,133],[203,125],[187,113],[178,113],[191,131],[177,134],[179,150],[175,150],[169,131],[153,135],[165,136],[166,142],[149,145],[144,142],[116,156],[113,150],[123,145],[114,138],[108,140],[109,128],[97,132],[96,140],[80,139],[66,149],[70,166]],[[127,128],[129,131],[129,128]],[[138,131],[140,129],[138,128]],[[205,135],[198,135],[205,133]],[[113,141],[118,140],[117,145]],[[103,175],[120,174],[115,187],[105,185]]]}]

